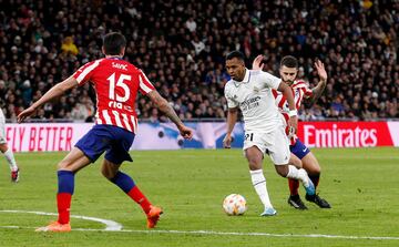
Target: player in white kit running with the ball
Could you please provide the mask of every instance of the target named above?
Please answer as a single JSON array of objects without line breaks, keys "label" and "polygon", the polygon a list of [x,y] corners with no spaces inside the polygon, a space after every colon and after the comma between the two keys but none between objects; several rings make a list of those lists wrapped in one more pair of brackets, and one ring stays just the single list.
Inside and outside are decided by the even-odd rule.
[{"label": "player in white kit running with the ball", "polygon": [[290,109],[288,126],[295,133],[298,120],[294,95],[290,88],[280,79],[263,71],[246,69],[244,55],[239,51],[227,54],[226,70],[232,79],[225,85],[228,113],[227,133],[223,144],[226,148],[231,147],[232,132],[239,107],[243,112],[245,128],[243,150],[248,161],[252,183],[265,208],[260,216],[273,216],[277,212],[270,203],[266,178],[263,174],[264,153],[270,156],[280,176],[299,179],[309,195],[315,194],[315,186],[306,171],[288,164],[289,141],[285,133],[283,115],[275,105],[272,90],[278,90],[286,96]]}]

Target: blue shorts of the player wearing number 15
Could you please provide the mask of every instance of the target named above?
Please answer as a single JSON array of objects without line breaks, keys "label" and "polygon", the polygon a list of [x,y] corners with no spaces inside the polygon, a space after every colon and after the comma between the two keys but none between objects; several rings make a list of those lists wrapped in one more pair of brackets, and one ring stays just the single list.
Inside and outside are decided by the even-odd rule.
[{"label": "blue shorts of the player wearing number 15", "polygon": [[98,124],[79,140],[75,147],[81,150],[92,163],[106,152],[105,159],[122,164],[124,161],[133,162],[129,150],[134,136],[134,133],[122,127]]}]

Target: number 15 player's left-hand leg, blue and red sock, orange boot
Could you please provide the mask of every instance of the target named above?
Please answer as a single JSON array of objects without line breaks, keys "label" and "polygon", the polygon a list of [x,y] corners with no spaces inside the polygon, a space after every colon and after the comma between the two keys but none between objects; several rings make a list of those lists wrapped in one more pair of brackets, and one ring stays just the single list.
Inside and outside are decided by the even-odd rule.
[{"label": "number 15 player's left-hand leg, blue and red sock, orange boot", "polygon": [[70,208],[74,191],[74,175],[91,161],[76,147],[58,164],[58,194],[57,206],[59,218],[48,226],[40,227],[37,231],[70,231]]}]

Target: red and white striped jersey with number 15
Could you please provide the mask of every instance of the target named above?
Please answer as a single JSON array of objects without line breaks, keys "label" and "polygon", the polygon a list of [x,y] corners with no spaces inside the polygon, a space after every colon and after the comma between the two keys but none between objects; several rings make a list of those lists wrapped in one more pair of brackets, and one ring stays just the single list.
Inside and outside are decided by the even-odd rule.
[{"label": "red and white striped jersey with number 15", "polygon": [[117,58],[99,59],[81,66],[73,75],[79,85],[91,82],[96,94],[96,124],[137,131],[135,99],[154,90],[145,74],[133,64]]}]

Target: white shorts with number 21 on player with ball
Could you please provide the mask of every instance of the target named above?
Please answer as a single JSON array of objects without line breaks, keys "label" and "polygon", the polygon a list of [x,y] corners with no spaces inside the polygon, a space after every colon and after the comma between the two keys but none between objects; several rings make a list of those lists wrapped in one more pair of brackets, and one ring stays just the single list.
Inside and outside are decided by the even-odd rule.
[{"label": "white shorts with number 21 on player with ball", "polygon": [[252,146],[268,154],[275,165],[286,165],[289,162],[289,140],[283,126],[270,133],[246,132],[243,150]]}]

